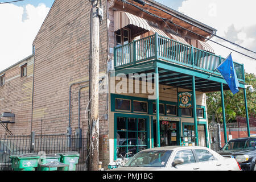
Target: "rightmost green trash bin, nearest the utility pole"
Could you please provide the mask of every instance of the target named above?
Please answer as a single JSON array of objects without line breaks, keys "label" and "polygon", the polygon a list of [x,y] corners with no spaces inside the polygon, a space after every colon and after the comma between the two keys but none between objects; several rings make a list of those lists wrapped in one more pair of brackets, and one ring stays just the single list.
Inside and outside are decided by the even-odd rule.
[{"label": "rightmost green trash bin, nearest the utility pole", "polygon": [[64,167],[63,171],[76,171],[76,164],[79,162],[79,152],[70,151],[58,153],[60,155],[60,162],[68,164],[68,167]]}]

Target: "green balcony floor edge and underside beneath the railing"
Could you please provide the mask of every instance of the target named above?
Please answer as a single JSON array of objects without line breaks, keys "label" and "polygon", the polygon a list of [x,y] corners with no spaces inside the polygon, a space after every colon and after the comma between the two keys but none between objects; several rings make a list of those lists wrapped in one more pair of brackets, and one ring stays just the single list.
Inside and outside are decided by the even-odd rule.
[{"label": "green balcony floor edge and underside beneath the railing", "polygon": [[[151,73],[152,82],[154,82],[155,67],[159,68],[159,84],[165,85],[165,89],[183,88],[192,90],[192,76],[195,76],[195,88],[198,92],[208,93],[220,91],[221,83],[224,86],[224,90],[229,90],[229,86],[221,76],[211,75],[207,72],[160,60],[152,60],[125,68],[117,68],[115,69],[115,76],[118,76],[119,73],[123,73],[129,78],[129,73],[138,73],[139,75],[142,73],[146,75]],[[240,82],[240,88],[245,88],[245,83]]]}]

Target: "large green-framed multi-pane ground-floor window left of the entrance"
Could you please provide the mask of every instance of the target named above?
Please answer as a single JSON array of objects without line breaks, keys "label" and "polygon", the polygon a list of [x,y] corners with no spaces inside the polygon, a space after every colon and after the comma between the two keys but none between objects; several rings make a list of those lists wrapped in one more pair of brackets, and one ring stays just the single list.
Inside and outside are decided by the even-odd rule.
[{"label": "large green-framed multi-pane ground-floor window left of the entrance", "polygon": [[127,152],[128,157],[145,150],[147,146],[147,123],[144,118],[117,118],[117,158]]}]

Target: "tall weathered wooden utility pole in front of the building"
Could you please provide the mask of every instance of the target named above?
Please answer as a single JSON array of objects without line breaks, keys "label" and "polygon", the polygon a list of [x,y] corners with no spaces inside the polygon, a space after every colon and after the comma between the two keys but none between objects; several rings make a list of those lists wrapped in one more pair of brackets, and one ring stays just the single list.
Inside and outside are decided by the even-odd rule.
[{"label": "tall weathered wooden utility pole in front of the building", "polygon": [[98,16],[99,0],[92,1],[90,15],[90,160],[89,170],[98,171],[98,142],[99,142],[99,121],[98,121],[98,86],[99,86],[99,45],[100,45],[100,18]]}]

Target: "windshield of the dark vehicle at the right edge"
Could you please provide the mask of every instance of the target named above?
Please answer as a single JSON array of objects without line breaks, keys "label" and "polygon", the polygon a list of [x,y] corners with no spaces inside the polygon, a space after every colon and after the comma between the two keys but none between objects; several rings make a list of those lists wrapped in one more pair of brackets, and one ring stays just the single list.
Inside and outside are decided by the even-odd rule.
[{"label": "windshield of the dark vehicle at the right edge", "polygon": [[243,140],[230,140],[225,144],[223,150],[254,150],[255,140],[254,139],[243,139]]}]

